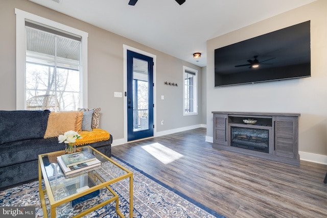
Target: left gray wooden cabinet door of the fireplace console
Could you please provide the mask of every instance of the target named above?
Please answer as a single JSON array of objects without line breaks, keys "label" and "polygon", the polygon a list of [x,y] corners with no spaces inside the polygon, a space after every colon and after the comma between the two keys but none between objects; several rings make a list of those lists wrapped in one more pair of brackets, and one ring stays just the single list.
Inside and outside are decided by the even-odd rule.
[{"label": "left gray wooden cabinet door of the fireplace console", "polygon": [[214,114],[214,143],[227,146],[227,114]]}]

